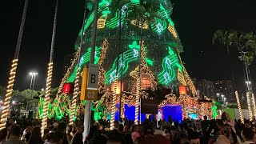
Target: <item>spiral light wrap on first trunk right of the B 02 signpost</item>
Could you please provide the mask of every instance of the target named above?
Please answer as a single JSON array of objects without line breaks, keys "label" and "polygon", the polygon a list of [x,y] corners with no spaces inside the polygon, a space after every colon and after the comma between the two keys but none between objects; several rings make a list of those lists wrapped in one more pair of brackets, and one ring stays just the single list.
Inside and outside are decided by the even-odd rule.
[{"label": "spiral light wrap on first trunk right of the B 02 signpost", "polygon": [[114,114],[116,110],[116,101],[117,101],[117,87],[118,87],[118,76],[115,76],[114,78],[114,92],[113,92],[113,99],[112,99],[112,105],[111,105],[111,118],[110,118],[110,130],[114,130]]}]

